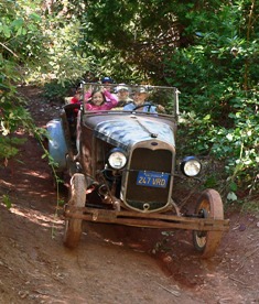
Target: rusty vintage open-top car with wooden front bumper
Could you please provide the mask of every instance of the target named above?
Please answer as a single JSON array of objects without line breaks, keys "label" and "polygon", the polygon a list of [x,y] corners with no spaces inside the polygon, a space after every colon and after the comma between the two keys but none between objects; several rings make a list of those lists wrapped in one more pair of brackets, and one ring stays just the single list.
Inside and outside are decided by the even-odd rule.
[{"label": "rusty vintage open-top car with wooden front bumper", "polygon": [[[89,86],[93,84],[85,85],[83,96]],[[111,89],[116,94],[116,88]],[[129,97],[134,98],[138,89],[127,87]],[[58,164],[56,173],[71,175],[64,245],[78,245],[83,220],[87,220],[188,229],[193,231],[194,248],[204,258],[212,257],[228,229],[220,195],[205,189],[193,202],[191,213],[186,207],[182,210],[183,203],[174,202],[175,175],[195,178],[202,165],[195,156],[175,164],[177,89],[145,89],[150,101],[131,110],[120,107],[87,111],[84,97],[82,105],[65,105],[61,118],[48,122],[48,149]],[[151,111],[161,104],[168,113]]]}]

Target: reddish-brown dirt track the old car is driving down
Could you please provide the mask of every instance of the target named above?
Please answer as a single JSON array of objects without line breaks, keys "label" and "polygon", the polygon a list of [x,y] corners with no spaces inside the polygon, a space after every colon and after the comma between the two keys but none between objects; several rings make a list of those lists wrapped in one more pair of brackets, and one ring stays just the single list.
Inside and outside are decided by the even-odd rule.
[{"label": "reddish-brown dirt track the old car is driving down", "polygon": [[[40,127],[58,112],[37,89],[23,94]],[[259,303],[259,215],[229,215],[212,260],[198,258],[188,231],[109,225],[86,224],[71,251],[41,154],[28,137],[21,162],[0,167],[0,202],[12,203],[0,205],[0,303]]]}]

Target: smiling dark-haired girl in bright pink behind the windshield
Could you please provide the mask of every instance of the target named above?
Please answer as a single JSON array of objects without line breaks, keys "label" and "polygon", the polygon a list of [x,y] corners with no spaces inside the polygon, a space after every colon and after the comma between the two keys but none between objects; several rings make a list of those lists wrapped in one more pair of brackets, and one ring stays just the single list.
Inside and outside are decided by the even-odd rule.
[{"label": "smiling dark-haired girl in bright pink behind the windshield", "polygon": [[87,91],[85,98],[88,100],[86,104],[87,111],[110,110],[118,104],[118,99],[105,88]]}]

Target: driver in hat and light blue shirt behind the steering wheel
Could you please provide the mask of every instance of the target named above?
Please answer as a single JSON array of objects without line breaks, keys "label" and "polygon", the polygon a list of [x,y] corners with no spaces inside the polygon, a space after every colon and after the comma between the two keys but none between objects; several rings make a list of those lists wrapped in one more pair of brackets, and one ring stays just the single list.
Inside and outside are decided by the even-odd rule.
[{"label": "driver in hat and light blue shirt behind the steering wheel", "polygon": [[[139,107],[139,110],[143,111],[143,112],[158,113],[157,108],[159,111],[164,111],[164,108],[160,105],[159,106],[148,105],[149,104],[149,101],[147,101],[148,97],[149,97],[149,93],[145,89],[145,87],[138,88],[138,90],[133,94],[133,101],[126,105],[123,107],[123,110],[132,111],[132,110],[134,110],[136,107]],[[147,106],[145,106],[145,104],[147,104]]]}]

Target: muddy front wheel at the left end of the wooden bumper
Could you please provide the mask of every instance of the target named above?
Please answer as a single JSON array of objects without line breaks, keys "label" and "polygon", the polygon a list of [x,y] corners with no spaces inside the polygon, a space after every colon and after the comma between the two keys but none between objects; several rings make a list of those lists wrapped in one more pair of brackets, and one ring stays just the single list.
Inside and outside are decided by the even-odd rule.
[{"label": "muddy front wheel at the left end of the wooden bumper", "polygon": [[[86,202],[86,178],[84,174],[76,173],[71,178],[71,199],[68,205],[84,207]],[[65,221],[64,245],[68,248],[78,246],[82,231],[83,220],[69,218]]]}]

